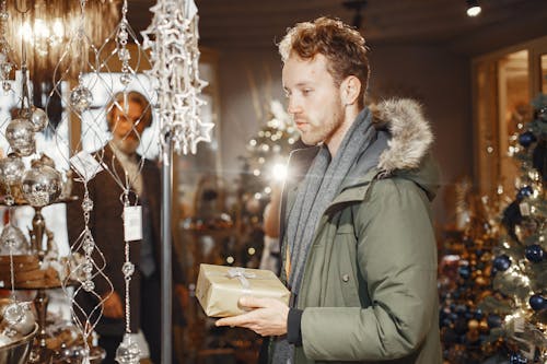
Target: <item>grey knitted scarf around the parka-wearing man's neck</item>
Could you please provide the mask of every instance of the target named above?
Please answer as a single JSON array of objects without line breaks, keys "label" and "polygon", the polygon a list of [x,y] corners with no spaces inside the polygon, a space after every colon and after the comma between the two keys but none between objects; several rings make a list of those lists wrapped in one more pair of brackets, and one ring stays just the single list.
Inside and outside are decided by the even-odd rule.
[{"label": "grey knitted scarf around the parka-wearing man's neck", "polygon": [[[333,160],[326,145],[315,156],[300,184],[287,224],[286,242],[291,254],[291,274],[288,280],[293,294],[298,295],[300,291],[307,251],[325,210],[342,188],[351,184],[351,179],[363,176],[377,165],[386,143],[386,136],[376,133],[372,114],[369,108],[364,108],[344,137]],[[279,340],[274,363],[291,363],[292,357],[292,345],[286,339]]]}]

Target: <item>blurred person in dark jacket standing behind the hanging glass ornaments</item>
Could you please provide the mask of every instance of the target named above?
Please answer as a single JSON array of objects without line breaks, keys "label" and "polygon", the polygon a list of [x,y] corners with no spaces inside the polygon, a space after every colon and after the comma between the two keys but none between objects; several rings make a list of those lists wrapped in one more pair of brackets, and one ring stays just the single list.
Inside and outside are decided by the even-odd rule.
[{"label": "blurred person in dark jacket standing behind the hanging glass ornaments", "polygon": [[[104,300],[103,317],[95,330],[100,334],[98,344],[107,354],[103,363],[115,363],[116,350],[126,330],[121,267],[125,262],[123,201],[127,189],[130,204],[142,207],[142,240],[129,243],[130,260],[136,267],[130,281],[131,332],[142,330],[152,362],[160,363],[160,171],[154,162],[136,153],[142,132],[152,122],[151,106],[138,92],[118,93],[107,107],[106,119],[113,139],[95,153],[105,169],[88,183],[93,201],[89,227],[106,260],[104,274],[110,280],[114,292],[101,274],[95,277],[95,291]],[[74,192],[82,201],[83,185],[75,184]],[[69,203],[67,213],[69,239],[73,243],[84,226],[81,202]],[[98,255],[94,258],[101,261]],[[181,283],[178,265],[174,263],[173,268],[173,279]],[[182,284],[176,285],[176,292],[184,295]],[[84,291],[80,291],[75,300],[88,315],[98,305],[95,296]],[[174,314],[177,313],[179,310],[174,309]]]}]

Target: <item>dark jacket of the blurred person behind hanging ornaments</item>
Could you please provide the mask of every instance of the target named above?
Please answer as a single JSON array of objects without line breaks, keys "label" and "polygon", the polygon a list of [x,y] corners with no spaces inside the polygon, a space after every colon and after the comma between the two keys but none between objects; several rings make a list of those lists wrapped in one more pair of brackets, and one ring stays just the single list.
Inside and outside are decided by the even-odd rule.
[{"label": "dark jacket of the blurred person behind hanging ornaments", "polygon": [[[124,274],[121,273],[121,266],[125,262],[123,221],[124,206],[121,202],[123,189],[113,177],[114,174],[124,178],[124,169],[119,162],[114,158],[114,153],[108,145],[95,153],[95,157],[98,161],[102,161],[108,169],[100,172],[88,184],[90,198],[93,201],[93,210],[91,211],[89,226],[97,248],[104,256],[103,258],[98,251],[95,251],[93,254],[93,258],[97,263],[105,261],[103,273],[109,279],[114,291],[118,293],[124,303],[125,280]],[[150,227],[155,261],[154,275],[156,274],[158,279],[160,279],[161,174],[154,162],[143,160],[141,175],[150,212]],[[67,206],[67,225],[70,244],[74,244],[77,242],[84,228],[83,212],[81,208],[81,201],[83,199],[83,184],[74,183],[73,195],[78,196],[79,200]],[[133,204],[135,199],[136,195],[131,191],[131,204]],[[136,332],[136,330],[140,327],[140,296],[146,293],[140,292],[141,273],[139,271],[139,260],[141,244],[140,242],[130,242],[129,244],[130,260],[135,265],[135,273],[130,281],[131,330]],[[173,249],[173,255],[174,253],[175,250]],[[176,259],[173,259],[173,280],[179,282],[182,280],[182,274],[179,273],[178,265],[176,265]],[[96,270],[94,270],[94,272]],[[100,295],[110,290],[108,282],[102,274],[95,277],[93,281],[95,283],[95,292]],[[148,314],[156,315],[158,319],[160,319],[160,298],[161,297],[158,296],[148,297],[148,300],[152,300],[158,304],[158,310],[155,313]],[[83,290],[78,292],[75,300],[86,314],[91,313],[91,309],[97,304],[96,297],[84,292]],[[94,318],[96,318],[96,316],[94,316]],[[123,334],[125,332],[125,319],[102,317],[95,329],[102,334]]]}]

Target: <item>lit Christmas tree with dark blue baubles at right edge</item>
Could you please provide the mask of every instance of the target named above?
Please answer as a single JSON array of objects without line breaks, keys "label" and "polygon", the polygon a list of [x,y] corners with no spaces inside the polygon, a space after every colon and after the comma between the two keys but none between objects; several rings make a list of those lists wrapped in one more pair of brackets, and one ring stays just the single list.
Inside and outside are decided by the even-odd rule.
[{"label": "lit Christmas tree with dark blue baubles at right edge", "polygon": [[547,95],[532,104],[533,119],[509,151],[520,174],[492,250],[493,294],[478,305],[489,326],[484,345],[499,348],[510,364],[547,362]]}]

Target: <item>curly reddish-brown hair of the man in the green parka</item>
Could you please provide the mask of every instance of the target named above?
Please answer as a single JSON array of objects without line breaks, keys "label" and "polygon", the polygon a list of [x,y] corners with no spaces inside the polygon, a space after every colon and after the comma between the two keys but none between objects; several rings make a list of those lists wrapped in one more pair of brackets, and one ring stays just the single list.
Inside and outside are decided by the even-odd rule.
[{"label": "curly reddish-brown hair of the man in the green parka", "polygon": [[361,34],[340,20],[318,17],[313,22],[299,23],[287,31],[279,43],[283,62],[292,55],[312,59],[321,54],[328,60],[327,70],[337,86],[349,75],[361,81],[360,106],[369,83],[368,48]]}]

